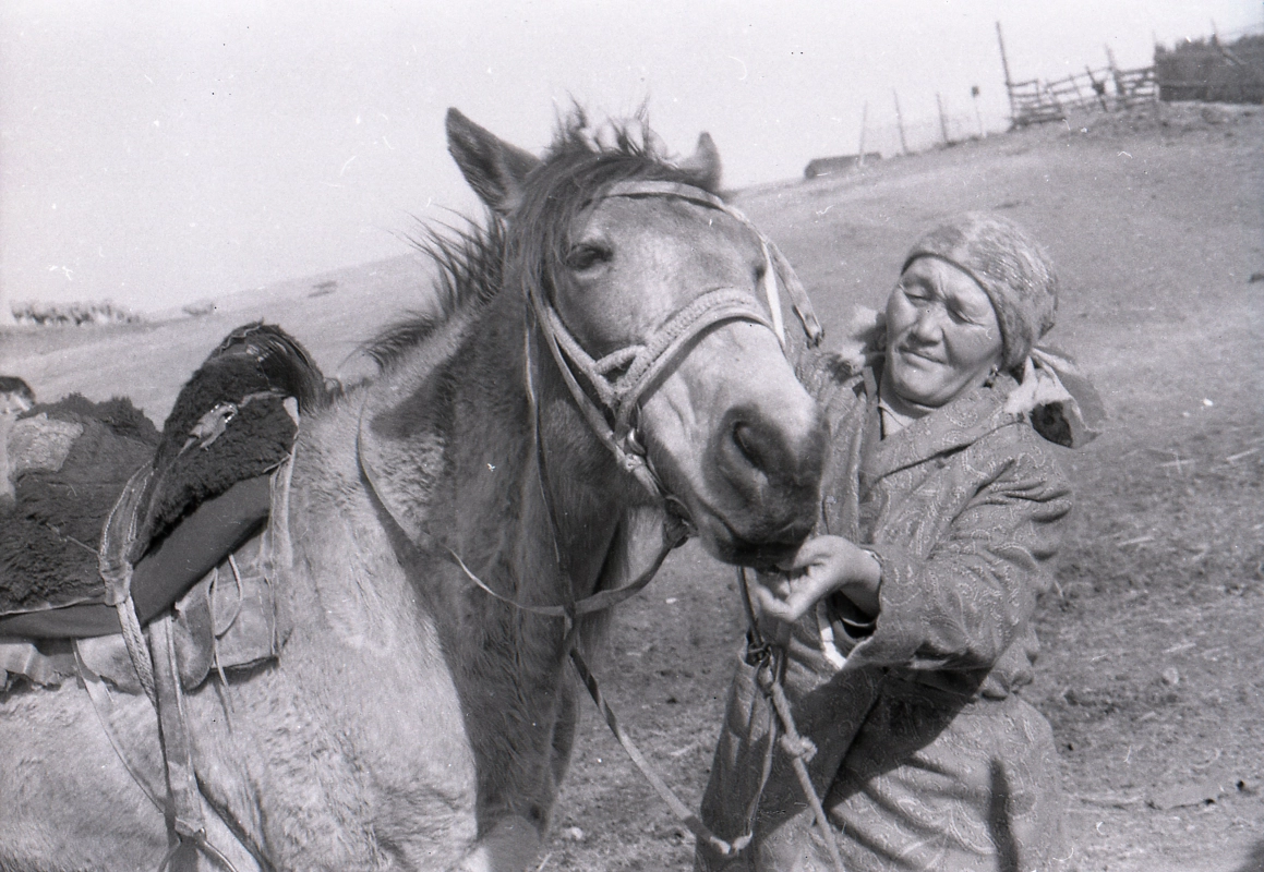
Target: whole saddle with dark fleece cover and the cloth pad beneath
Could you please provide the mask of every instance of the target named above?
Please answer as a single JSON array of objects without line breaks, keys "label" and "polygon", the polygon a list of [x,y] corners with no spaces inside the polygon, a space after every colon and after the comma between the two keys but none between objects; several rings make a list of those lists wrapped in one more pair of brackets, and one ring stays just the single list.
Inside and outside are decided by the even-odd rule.
[{"label": "whole saddle with dark fleece cover and the cloth pad beneath", "polygon": [[5,415],[0,690],[14,676],[54,684],[76,656],[139,689],[112,605],[125,595],[142,624],[174,621],[186,686],[212,665],[276,656],[259,551],[268,535],[252,536],[268,518],[273,473],[288,469],[300,411],[320,408],[334,388],[293,337],[257,322],[193,373],[162,433],[121,398],[72,394]]}]

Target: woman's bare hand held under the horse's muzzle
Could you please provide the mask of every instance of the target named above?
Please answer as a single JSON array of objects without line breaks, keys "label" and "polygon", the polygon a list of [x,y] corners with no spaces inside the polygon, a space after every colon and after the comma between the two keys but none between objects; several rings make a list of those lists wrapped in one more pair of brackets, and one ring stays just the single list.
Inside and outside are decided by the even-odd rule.
[{"label": "woman's bare hand held under the horse's muzzle", "polygon": [[782,570],[786,575],[767,579],[753,591],[761,614],[794,623],[836,590],[865,614],[878,613],[882,567],[871,552],[842,536],[808,540]]}]

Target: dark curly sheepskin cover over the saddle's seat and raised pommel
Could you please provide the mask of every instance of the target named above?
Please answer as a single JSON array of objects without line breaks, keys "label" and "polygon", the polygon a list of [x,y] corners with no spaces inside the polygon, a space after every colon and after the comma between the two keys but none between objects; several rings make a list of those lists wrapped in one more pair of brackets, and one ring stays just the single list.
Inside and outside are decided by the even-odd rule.
[{"label": "dark curly sheepskin cover over the saddle's seat and raised pommel", "polygon": [[0,636],[119,632],[99,548],[129,481],[143,487],[124,555],[133,598],[143,622],[164,612],[267,519],[268,476],[289,455],[298,409],[326,393],[296,340],[250,324],[181,389],[161,433],[120,398],[72,394],[21,413],[0,470],[14,494],[0,504]]}]

